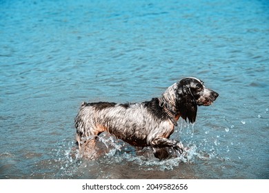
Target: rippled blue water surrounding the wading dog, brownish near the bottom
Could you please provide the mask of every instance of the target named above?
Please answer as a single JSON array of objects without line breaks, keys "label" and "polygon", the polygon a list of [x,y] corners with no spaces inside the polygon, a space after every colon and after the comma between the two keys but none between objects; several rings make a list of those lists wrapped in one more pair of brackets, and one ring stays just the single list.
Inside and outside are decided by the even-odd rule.
[{"label": "rippled blue water surrounding the wading dog, brownish near the bottom", "polygon": [[[0,179],[269,179],[268,1],[0,1]],[[101,136],[77,158],[82,101],[160,96],[183,77],[219,92],[157,161]],[[108,148],[106,148],[106,145]]]}]

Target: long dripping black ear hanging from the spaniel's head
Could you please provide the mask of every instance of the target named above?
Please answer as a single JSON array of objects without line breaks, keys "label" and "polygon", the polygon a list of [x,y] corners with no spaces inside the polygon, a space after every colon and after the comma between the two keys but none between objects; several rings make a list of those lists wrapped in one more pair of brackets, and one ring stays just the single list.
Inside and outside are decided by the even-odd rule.
[{"label": "long dripping black ear hanging from the spaniel's head", "polygon": [[195,123],[197,115],[197,103],[192,92],[190,91],[190,88],[185,85],[181,85],[181,88],[178,90],[177,100],[181,117],[185,119],[186,122],[188,118],[189,123]]}]

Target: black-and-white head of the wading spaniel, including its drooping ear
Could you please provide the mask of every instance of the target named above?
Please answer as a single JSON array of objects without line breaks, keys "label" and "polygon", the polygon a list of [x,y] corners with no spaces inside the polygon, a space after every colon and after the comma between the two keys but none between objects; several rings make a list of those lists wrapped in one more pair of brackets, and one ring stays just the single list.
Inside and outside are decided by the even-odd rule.
[{"label": "black-and-white head of the wading spaniel, including its drooping ear", "polygon": [[217,92],[206,88],[203,81],[196,78],[181,79],[177,83],[176,108],[181,117],[191,123],[195,122],[197,105],[208,106],[217,99]]}]

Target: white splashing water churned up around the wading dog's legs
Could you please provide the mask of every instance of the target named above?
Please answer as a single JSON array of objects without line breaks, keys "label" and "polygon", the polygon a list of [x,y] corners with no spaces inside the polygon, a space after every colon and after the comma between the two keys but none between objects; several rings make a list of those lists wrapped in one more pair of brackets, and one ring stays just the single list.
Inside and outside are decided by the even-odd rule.
[{"label": "white splashing water churned up around the wading dog's legs", "polygon": [[[81,176],[90,174],[93,175],[93,178],[98,178],[100,171],[97,171],[97,168],[103,170],[101,172],[105,174],[106,165],[117,165],[117,167],[119,167],[118,165],[124,165],[125,167],[129,165],[130,167],[138,167],[139,170],[143,171],[175,170],[181,167],[182,163],[194,163],[197,159],[209,160],[215,158],[218,154],[220,136],[213,139],[212,143],[210,143],[210,136],[207,135],[202,139],[203,143],[199,144],[197,143],[197,139],[192,138],[194,136],[194,127],[194,124],[190,126],[190,124],[183,124],[183,121],[181,121],[181,127],[175,134],[175,137],[187,134],[188,138],[186,139],[184,137],[188,141],[188,143],[184,144],[186,147],[185,153],[179,154],[179,152],[173,151],[172,158],[163,161],[155,158],[150,148],[144,148],[144,154],[139,154],[134,147],[108,133],[103,133],[97,137],[97,149],[103,152],[103,154],[96,160],[81,159],[77,144],[74,141],[72,143],[70,141],[63,141],[56,151],[57,156],[55,162],[57,164],[55,167],[59,170],[58,176],[56,176],[58,178],[62,178],[63,176],[72,178],[78,174]],[[190,128],[192,128],[192,132],[190,132]]]}]

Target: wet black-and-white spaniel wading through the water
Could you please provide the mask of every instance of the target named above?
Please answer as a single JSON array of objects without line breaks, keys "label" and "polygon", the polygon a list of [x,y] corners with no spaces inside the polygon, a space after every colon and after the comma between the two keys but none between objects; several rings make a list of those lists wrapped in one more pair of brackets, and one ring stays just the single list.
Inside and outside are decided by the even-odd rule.
[{"label": "wet black-and-white spaniel wading through the water", "polygon": [[182,117],[194,123],[197,106],[211,105],[218,96],[203,81],[187,77],[171,85],[159,98],[143,103],[83,102],[74,120],[79,154],[90,158],[102,132],[138,149],[150,146],[159,160],[168,159],[171,148],[182,154],[183,144],[169,139],[177,121]]}]

